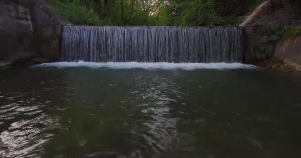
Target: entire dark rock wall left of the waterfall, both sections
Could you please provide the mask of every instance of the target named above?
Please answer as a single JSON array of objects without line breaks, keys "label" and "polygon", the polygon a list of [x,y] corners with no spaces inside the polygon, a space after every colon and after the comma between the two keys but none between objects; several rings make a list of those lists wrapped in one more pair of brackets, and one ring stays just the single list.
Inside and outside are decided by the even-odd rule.
[{"label": "entire dark rock wall left of the waterfall, both sections", "polygon": [[58,60],[61,26],[68,24],[44,0],[0,1],[0,66]]}]

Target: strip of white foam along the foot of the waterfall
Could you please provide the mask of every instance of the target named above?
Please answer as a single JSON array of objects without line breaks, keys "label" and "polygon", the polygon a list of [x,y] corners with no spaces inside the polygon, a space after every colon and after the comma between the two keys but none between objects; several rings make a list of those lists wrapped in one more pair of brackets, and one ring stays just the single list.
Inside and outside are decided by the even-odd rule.
[{"label": "strip of white foam along the foot of the waterfall", "polygon": [[126,63],[95,63],[95,62],[54,62],[39,64],[34,67],[57,67],[57,68],[68,68],[68,67],[89,67],[89,68],[111,68],[111,69],[183,69],[183,70],[195,70],[195,69],[254,69],[253,65],[247,65],[242,63],[137,63],[137,62],[126,62]]}]

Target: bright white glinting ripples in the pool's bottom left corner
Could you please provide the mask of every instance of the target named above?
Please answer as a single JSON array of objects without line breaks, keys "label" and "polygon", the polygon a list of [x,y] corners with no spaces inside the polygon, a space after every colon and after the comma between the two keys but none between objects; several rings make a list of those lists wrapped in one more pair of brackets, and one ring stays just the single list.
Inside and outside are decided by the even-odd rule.
[{"label": "bright white glinting ripples in the pool's bottom left corner", "polygon": [[1,98],[4,105],[0,106],[0,125],[6,126],[0,128],[1,158],[37,157],[42,145],[53,136],[52,131],[60,128],[59,118],[44,113],[47,103],[21,97],[23,94],[14,92]]}]

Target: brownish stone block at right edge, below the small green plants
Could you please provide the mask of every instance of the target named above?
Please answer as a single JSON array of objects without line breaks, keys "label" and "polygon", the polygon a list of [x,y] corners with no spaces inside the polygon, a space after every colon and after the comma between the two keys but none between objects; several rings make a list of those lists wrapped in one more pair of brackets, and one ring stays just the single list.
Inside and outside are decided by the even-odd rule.
[{"label": "brownish stone block at right edge, below the small green plants", "polygon": [[275,58],[301,68],[301,36],[283,39],[277,43]]}]

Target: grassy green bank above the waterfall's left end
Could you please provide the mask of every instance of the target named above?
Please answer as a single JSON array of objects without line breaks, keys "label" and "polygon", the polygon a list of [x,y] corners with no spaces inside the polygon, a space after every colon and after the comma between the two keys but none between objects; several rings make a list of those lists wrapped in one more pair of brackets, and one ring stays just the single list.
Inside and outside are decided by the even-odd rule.
[{"label": "grassy green bank above the waterfall's left end", "polygon": [[77,2],[61,2],[58,0],[47,0],[50,7],[64,19],[75,25],[101,25],[102,21],[85,6]]}]

